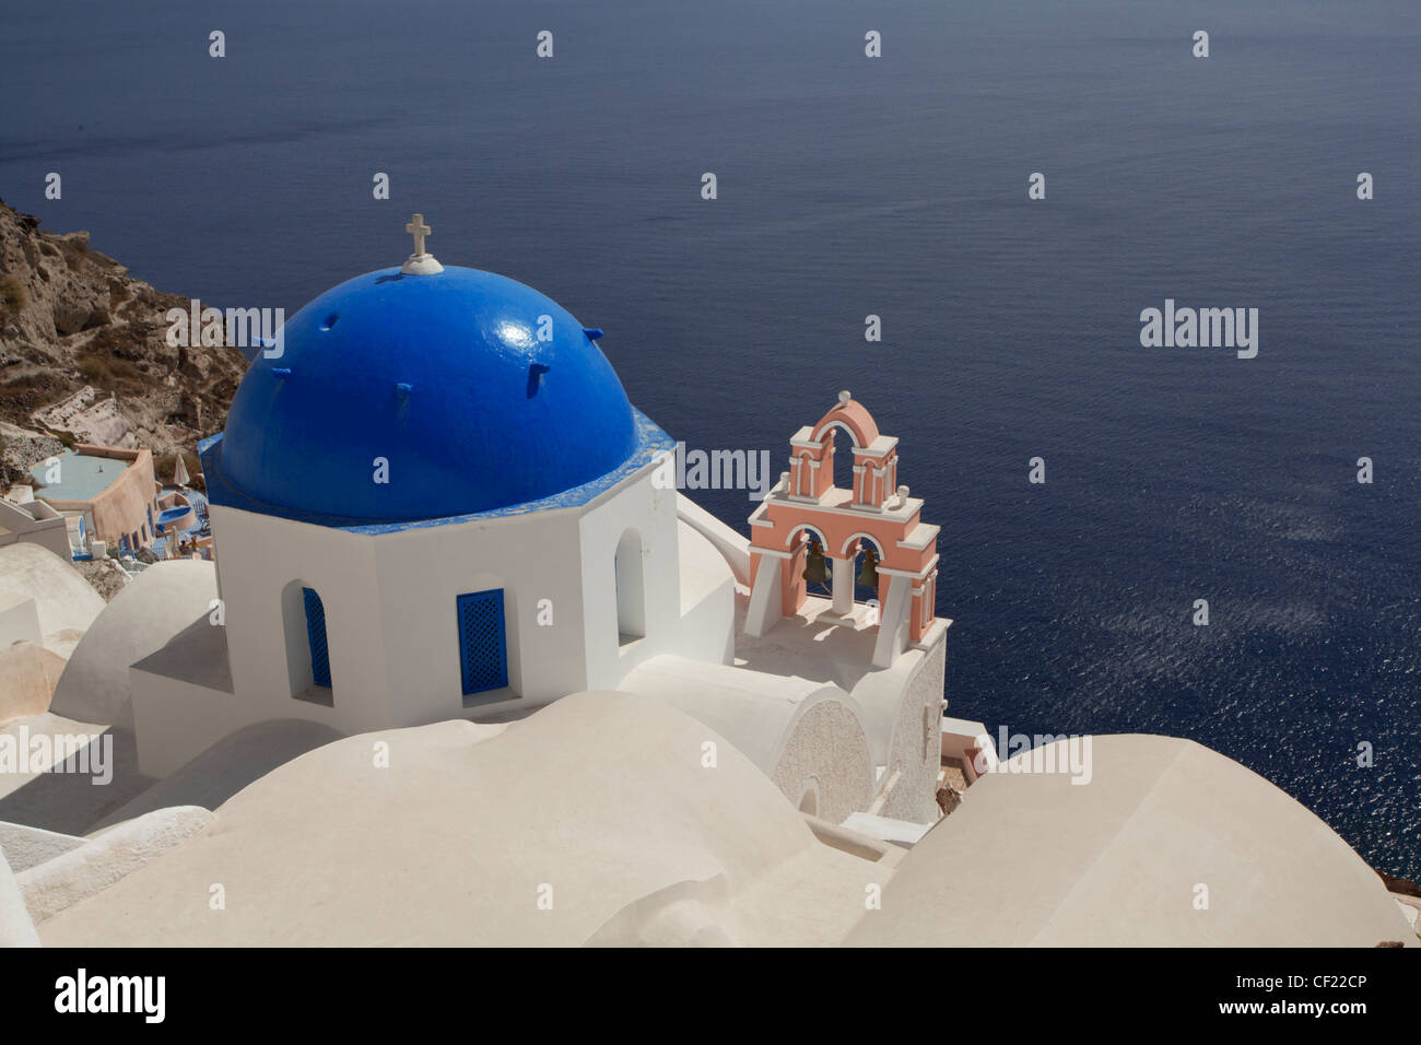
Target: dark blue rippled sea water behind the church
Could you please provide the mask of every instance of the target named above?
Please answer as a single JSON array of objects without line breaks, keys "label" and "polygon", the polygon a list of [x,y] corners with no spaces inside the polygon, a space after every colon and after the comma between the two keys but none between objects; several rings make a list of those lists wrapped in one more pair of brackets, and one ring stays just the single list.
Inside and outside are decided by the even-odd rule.
[{"label": "dark blue rippled sea water behind the church", "polygon": [[[422,210],[692,446],[779,459],[850,388],[942,525],[953,714],[1191,736],[1421,876],[1414,0],[240,7],[7,11],[0,195],[288,313]],[[1259,309],[1258,358],[1141,348],[1165,297]]]}]

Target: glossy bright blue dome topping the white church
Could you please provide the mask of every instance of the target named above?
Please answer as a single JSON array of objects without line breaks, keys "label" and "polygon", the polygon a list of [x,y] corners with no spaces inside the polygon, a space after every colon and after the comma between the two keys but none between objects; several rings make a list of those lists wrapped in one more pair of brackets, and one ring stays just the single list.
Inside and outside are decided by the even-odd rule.
[{"label": "glossy bright blue dome topping the white church", "polygon": [[477,269],[382,269],[293,316],[280,357],[257,355],[220,479],[280,513],[394,523],[539,500],[637,446],[615,371],[557,303]]}]

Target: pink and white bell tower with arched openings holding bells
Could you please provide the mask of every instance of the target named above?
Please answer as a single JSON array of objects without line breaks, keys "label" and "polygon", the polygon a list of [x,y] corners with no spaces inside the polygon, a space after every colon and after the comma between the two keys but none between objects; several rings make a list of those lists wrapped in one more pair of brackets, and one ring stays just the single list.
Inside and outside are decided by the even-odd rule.
[{"label": "pink and white bell tower with arched openings holding bells", "polygon": [[[834,485],[834,432],[853,442],[853,488]],[[938,527],[921,519],[922,500],[898,485],[898,439],[845,391],[814,425],[790,438],[790,471],[750,515],[750,609],[745,630],[763,636],[799,614],[810,594],[804,567],[821,540],[833,563],[830,620],[860,624],[854,563],[864,543],[878,553],[878,637],[874,664],[890,667],[908,645],[925,647],[948,621],[934,613]],[[820,614],[820,620],[826,616]]]}]

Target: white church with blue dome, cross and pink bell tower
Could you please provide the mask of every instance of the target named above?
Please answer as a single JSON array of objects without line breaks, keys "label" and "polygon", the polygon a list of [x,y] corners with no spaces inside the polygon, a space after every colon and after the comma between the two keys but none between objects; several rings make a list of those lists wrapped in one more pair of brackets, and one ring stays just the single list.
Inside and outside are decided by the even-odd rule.
[{"label": "white church with blue dome, cross and pink bell tower", "polygon": [[[614,690],[701,721],[804,813],[935,822],[951,621],[897,439],[826,395],[746,539],[665,481],[675,441],[603,331],[441,264],[421,215],[406,232],[404,264],[286,323],[199,446],[216,597],[129,667],[139,769],[257,724],[512,722]],[[992,758],[978,734],[958,748]]]}]

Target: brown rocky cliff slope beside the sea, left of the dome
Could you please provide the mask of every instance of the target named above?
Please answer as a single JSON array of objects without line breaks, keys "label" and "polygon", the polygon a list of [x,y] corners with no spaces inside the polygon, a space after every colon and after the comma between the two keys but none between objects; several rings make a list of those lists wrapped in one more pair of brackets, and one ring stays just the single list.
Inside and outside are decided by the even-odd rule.
[{"label": "brown rocky cliff slope beside the sea, left of the dome", "polygon": [[189,309],[0,200],[0,483],[23,481],[55,442],[148,446],[196,472],[196,442],[223,427],[246,370],[230,345],[173,347],[169,309]]}]

